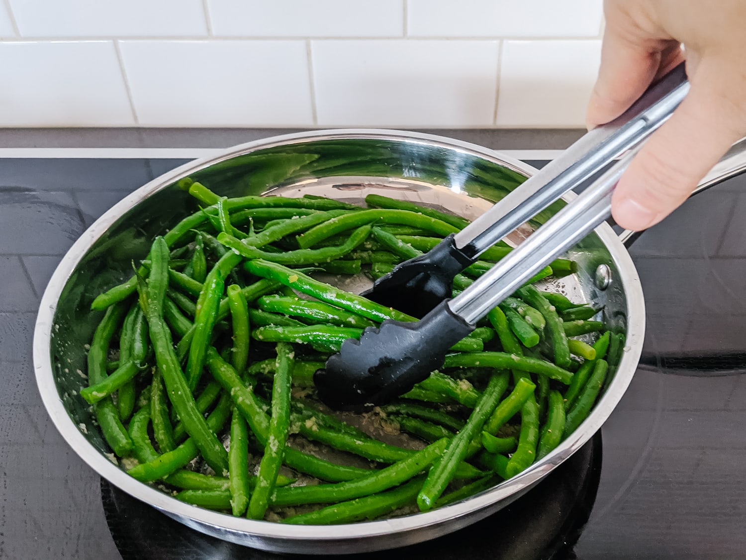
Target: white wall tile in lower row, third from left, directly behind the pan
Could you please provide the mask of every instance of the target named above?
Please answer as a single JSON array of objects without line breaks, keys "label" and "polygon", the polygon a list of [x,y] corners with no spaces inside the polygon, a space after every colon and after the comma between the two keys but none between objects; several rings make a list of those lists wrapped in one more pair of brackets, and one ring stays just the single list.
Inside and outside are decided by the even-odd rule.
[{"label": "white wall tile in lower row, third from left, directly behind the pan", "polygon": [[497,41],[313,41],[319,125],[489,126]]}]

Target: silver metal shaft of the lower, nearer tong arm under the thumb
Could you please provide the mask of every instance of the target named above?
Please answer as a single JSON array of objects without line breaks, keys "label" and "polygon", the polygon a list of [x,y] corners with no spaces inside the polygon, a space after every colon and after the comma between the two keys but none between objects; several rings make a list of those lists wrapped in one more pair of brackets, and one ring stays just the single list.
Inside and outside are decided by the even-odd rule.
[{"label": "silver metal shaft of the lower, nearer tong arm under the thumb", "polygon": [[451,311],[473,325],[611,215],[611,197],[624,169],[642,147],[631,150],[574,201],[531,234],[517,249],[448,302]]}]

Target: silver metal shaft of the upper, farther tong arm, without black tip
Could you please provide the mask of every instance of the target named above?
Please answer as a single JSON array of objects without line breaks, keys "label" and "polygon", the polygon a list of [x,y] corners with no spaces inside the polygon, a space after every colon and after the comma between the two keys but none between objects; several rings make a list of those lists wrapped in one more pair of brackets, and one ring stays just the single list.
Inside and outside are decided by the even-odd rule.
[{"label": "silver metal shaft of the upper, farther tong arm, without black tip", "polygon": [[457,249],[476,260],[519,225],[645,140],[671,116],[688,92],[689,81],[681,63],[649,87],[621,116],[589,131],[559,158],[457,233],[454,237]]}]

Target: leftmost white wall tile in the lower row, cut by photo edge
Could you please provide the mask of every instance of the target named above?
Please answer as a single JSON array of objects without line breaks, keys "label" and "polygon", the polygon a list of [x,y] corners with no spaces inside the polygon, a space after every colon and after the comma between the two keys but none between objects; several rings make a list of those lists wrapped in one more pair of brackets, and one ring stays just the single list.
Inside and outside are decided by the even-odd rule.
[{"label": "leftmost white wall tile in the lower row, cut by photo edge", "polygon": [[134,125],[110,41],[0,43],[0,126]]}]

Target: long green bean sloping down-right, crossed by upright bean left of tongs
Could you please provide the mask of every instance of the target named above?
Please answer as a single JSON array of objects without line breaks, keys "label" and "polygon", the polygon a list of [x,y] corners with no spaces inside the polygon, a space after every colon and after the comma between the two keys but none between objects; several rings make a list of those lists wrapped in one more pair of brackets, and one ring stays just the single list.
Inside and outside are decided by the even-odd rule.
[{"label": "long green bean sloping down-right, crossed by upright bean left of tongs", "polygon": [[[245,417],[251,432],[257,436],[262,445],[266,445],[269,439],[269,417],[257,402],[254,391],[243,385],[236,370],[233,370],[233,367],[225,362],[212,347],[207,350],[207,367],[210,368],[216,381],[231,394],[233,404]],[[295,470],[335,482],[355,479],[369,473],[369,470],[333,464],[291,447],[285,449],[284,461]]]}]

